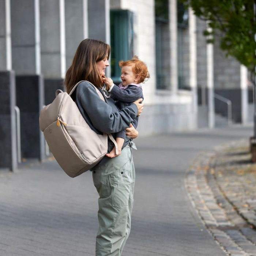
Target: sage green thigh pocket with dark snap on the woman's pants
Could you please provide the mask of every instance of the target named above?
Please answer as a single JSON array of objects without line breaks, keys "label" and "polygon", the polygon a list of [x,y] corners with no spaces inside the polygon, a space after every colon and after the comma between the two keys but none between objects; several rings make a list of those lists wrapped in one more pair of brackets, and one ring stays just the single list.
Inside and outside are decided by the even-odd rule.
[{"label": "sage green thigh pocket with dark snap on the woman's pants", "polygon": [[131,162],[115,172],[109,174],[111,186],[112,206],[128,206],[131,189]]}]

